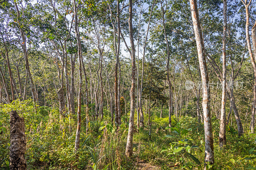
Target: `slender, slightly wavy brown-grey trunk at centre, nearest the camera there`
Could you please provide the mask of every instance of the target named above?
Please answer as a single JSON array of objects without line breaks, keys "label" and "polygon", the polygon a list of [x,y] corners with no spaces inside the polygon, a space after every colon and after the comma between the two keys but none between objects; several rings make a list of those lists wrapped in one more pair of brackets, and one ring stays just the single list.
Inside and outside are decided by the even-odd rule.
[{"label": "slender, slightly wavy brown-grey trunk at centre, nearest the camera there", "polygon": [[132,86],[131,86],[131,111],[129,118],[129,129],[127,136],[127,143],[125,148],[125,155],[127,157],[132,156],[132,140],[133,140],[133,131],[134,131],[134,111],[135,111],[135,74],[136,74],[136,65],[135,65],[135,46],[133,41],[133,29],[132,29],[132,0],[129,0],[129,37],[132,46]]}]

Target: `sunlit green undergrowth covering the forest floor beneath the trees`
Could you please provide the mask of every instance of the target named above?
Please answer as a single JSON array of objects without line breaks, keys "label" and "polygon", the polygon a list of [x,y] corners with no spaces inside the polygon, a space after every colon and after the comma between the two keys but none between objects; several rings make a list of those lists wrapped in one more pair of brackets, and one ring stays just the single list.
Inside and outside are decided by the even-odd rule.
[{"label": "sunlit green undergrowth covering the forest floor beneath the trees", "polygon": [[[131,158],[124,154],[128,133],[125,117],[118,133],[108,115],[101,122],[91,120],[88,133],[82,121],[80,149],[75,154],[76,115],[65,118],[61,131],[58,109],[39,107],[35,113],[33,103],[24,103],[0,108],[2,126],[7,129],[0,135],[0,170],[9,170],[9,112],[12,109],[17,109],[25,118],[25,157],[30,170],[194,170],[204,166],[204,128],[194,117],[172,117],[173,128],[168,130],[165,129],[168,110],[164,110],[165,118],[159,118],[153,110],[151,133],[147,124],[134,132]],[[82,112],[82,120],[84,118]],[[256,136],[249,133],[249,124],[243,122],[243,125],[241,138],[237,137],[236,124],[227,126],[227,145],[220,149],[219,120],[212,117],[215,164],[208,165],[209,169],[256,169]]]}]

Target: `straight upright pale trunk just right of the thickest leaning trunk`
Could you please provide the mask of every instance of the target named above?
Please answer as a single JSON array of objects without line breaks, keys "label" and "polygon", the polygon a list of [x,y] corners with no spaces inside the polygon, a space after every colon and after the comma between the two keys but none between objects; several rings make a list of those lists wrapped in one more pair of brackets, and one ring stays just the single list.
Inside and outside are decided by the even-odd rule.
[{"label": "straight upright pale trunk just right of the thickest leaning trunk", "polygon": [[227,36],[227,0],[223,0],[223,39],[222,39],[222,99],[220,115],[219,145],[226,145],[226,36]]}]

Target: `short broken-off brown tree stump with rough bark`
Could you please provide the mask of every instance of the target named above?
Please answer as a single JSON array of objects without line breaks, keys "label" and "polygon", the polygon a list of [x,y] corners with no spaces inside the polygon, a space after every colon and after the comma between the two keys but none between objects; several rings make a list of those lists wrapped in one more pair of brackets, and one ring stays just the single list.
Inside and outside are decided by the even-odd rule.
[{"label": "short broken-off brown tree stump with rough bark", "polygon": [[24,118],[15,110],[10,113],[10,170],[26,170],[25,149],[27,145]]}]

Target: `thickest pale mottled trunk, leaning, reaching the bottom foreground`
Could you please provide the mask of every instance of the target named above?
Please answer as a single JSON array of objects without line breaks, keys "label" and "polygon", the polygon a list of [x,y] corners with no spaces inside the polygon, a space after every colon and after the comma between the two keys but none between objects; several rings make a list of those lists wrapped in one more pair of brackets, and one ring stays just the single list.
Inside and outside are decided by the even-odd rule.
[{"label": "thickest pale mottled trunk, leaning, reaching the bottom foreground", "polygon": [[[208,88],[209,77],[207,71],[207,65],[205,60],[205,49],[204,49],[204,39],[201,32],[201,25],[199,20],[199,15],[197,11],[196,0],[189,0],[192,21],[194,26],[197,54],[200,65],[201,77],[202,77],[202,88],[203,88],[203,113],[204,113],[204,137],[205,137],[205,156],[204,156],[204,166],[207,163],[214,163],[214,151],[213,151],[213,136],[212,136],[212,120],[210,113],[210,88]],[[206,169],[206,168],[205,168]]]}]

